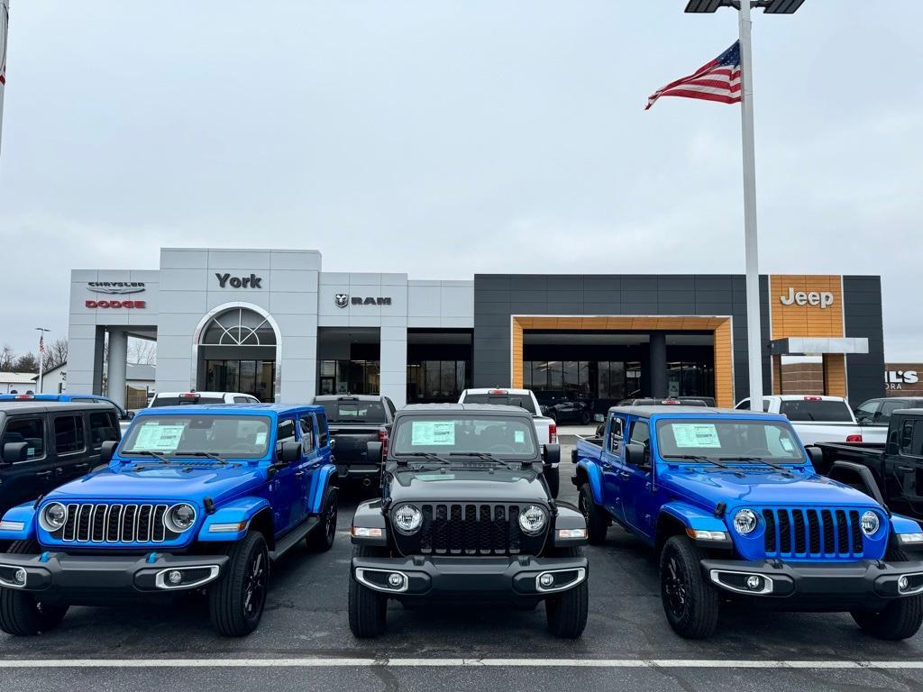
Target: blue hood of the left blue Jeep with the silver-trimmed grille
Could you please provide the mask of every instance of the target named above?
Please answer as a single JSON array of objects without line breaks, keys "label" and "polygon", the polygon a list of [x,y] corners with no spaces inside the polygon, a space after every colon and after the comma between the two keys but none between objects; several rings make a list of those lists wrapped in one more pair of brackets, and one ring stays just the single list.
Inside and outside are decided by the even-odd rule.
[{"label": "blue hood of the left blue Jeep with the silver-trimmed grille", "polygon": [[210,497],[216,502],[237,495],[251,484],[260,483],[264,471],[257,466],[209,467],[132,465],[118,471],[105,469],[66,483],[46,499],[80,500],[186,500],[202,504]]}]

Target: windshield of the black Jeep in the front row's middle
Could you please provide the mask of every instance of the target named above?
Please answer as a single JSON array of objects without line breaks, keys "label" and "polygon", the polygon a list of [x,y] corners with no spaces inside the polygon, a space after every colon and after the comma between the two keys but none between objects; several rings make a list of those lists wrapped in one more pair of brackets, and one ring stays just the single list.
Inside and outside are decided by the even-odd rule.
[{"label": "windshield of the black Jeep in the front row's middle", "polygon": [[534,457],[535,429],[527,418],[447,415],[403,418],[391,442],[395,456],[419,453],[440,457],[451,454],[496,454]]}]

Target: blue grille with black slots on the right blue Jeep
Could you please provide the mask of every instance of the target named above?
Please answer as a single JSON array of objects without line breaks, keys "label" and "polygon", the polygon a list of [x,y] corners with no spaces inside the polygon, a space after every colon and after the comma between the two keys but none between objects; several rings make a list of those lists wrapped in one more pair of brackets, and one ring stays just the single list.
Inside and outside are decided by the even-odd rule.
[{"label": "blue grille with black slots on the right blue Jeep", "polygon": [[763,509],[766,556],[860,556],[865,546],[855,509]]}]

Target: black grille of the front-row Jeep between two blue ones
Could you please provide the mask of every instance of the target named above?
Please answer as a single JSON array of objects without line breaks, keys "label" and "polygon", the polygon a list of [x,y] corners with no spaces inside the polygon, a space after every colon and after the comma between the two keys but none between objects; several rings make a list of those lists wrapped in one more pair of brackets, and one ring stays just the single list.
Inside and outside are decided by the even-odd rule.
[{"label": "black grille of the front-row Jeep between two blue ones", "polygon": [[394,531],[402,555],[536,555],[547,527],[538,536],[523,533],[520,505],[446,503],[417,505],[423,512],[420,531]]}]

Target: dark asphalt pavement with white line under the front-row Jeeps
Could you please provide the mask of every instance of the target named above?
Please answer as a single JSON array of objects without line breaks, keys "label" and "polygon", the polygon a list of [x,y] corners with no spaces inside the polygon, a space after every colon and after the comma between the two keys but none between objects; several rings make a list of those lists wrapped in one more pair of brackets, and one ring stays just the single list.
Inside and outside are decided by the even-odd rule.
[{"label": "dark asphalt pavement with white line under the front-row Jeeps", "polygon": [[[569,445],[562,499],[574,502]],[[848,614],[725,609],[708,641],[667,626],[652,553],[620,529],[587,547],[590,617],[577,641],[545,630],[545,613],[472,604],[403,610],[388,632],[357,640],[346,620],[349,526],[343,492],[329,553],[298,547],[276,566],[266,613],[247,638],[220,638],[206,604],[73,608],[37,638],[0,634],[0,690],[633,690],[923,689],[923,636],[884,642]],[[871,662],[869,664],[869,662]]]}]

